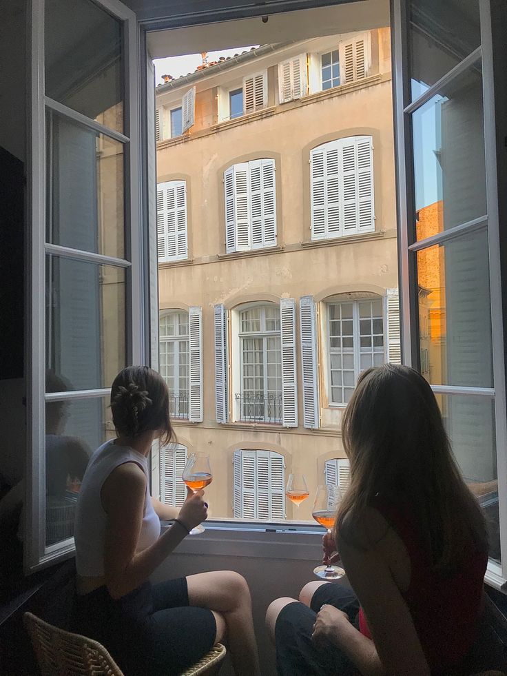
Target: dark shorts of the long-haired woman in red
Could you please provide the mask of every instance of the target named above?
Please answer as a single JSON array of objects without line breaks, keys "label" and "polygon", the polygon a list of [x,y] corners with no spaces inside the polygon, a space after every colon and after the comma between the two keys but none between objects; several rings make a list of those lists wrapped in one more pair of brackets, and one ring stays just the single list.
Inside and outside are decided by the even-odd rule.
[{"label": "dark shorts of the long-haired woman in red", "polygon": [[276,668],[279,676],[356,676],[359,674],[344,653],[334,646],[315,647],[311,640],[320,606],[329,604],[349,615],[359,628],[359,602],[344,581],[328,582],[317,588],[311,608],[296,601],[284,606],[276,620]]}]

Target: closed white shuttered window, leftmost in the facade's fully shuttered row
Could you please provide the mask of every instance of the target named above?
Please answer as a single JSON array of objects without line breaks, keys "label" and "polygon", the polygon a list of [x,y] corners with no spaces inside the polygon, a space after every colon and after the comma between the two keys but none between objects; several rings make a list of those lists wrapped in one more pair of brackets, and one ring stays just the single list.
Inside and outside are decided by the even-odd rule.
[{"label": "closed white shuttered window, leftmost in the facade's fully shuttered row", "polygon": [[157,253],[161,263],[188,258],[187,182],[156,187]]}]

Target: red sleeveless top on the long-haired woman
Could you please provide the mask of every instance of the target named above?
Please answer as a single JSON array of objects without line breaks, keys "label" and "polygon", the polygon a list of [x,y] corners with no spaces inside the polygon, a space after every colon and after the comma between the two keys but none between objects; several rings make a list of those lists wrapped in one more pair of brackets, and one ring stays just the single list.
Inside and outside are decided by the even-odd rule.
[{"label": "red sleeveless top on the long-haired woman", "polygon": [[[455,666],[475,640],[481,612],[487,552],[470,551],[461,568],[451,576],[431,570],[429,556],[418,541],[410,518],[384,500],[375,508],[402,539],[411,562],[411,581],[402,597],[410,611],[432,673]],[[362,608],[360,632],[371,639]]]}]

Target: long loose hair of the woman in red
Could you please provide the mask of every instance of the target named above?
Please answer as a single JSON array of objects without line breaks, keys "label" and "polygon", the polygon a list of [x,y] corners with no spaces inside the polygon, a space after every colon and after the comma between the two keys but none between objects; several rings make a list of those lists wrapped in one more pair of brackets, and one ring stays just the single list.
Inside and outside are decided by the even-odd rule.
[{"label": "long loose hair of the woman in red", "polygon": [[487,551],[482,510],[457,467],[437,401],[420,373],[385,364],[361,374],[342,421],[351,483],[337,515],[346,532],[376,495],[409,513],[433,569],[470,545]]}]

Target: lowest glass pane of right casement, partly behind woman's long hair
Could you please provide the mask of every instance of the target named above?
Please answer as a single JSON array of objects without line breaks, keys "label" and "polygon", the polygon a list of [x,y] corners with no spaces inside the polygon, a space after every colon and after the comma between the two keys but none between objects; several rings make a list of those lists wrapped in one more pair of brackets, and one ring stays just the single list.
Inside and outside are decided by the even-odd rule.
[{"label": "lowest glass pane of right casement, partly behind woman's long hair", "polygon": [[464,480],[484,509],[490,535],[490,557],[499,561],[494,400],[448,394],[437,394],[436,398]]}]

